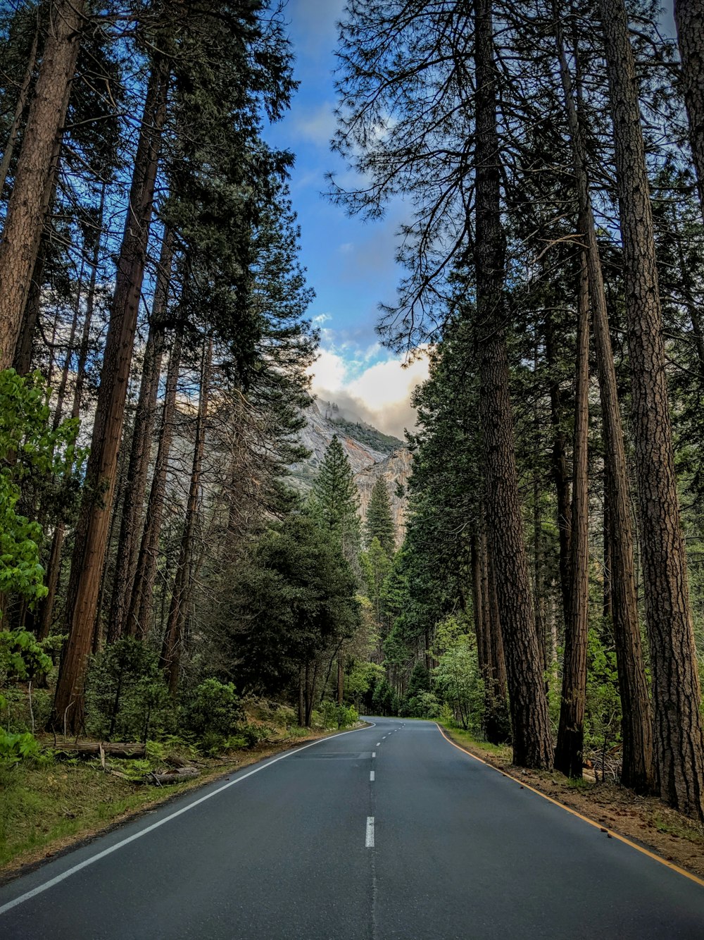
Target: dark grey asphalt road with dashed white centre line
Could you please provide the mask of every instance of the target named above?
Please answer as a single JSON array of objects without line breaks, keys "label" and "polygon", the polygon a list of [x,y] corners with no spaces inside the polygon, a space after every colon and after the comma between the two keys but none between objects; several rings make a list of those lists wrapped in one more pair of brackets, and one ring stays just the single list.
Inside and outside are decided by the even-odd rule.
[{"label": "dark grey asphalt road with dashed white centre line", "polygon": [[704,886],[431,722],[370,721],[1,887],[0,938],[704,938]]}]

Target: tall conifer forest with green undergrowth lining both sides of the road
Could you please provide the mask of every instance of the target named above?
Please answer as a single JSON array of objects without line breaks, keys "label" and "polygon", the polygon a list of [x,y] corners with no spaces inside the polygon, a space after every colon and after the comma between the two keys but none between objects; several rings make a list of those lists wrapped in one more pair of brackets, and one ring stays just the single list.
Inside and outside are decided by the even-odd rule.
[{"label": "tall conifer forest with green undergrowth lining both sides of the road", "polygon": [[285,4],[2,5],[4,781],[253,746],[266,702],[293,736],[436,719],[704,822],[704,36],[668,17],[348,0],[327,196],[403,198],[378,331],[430,361],[401,540],[339,439],[374,429],[292,485],[319,336],[267,142]]}]

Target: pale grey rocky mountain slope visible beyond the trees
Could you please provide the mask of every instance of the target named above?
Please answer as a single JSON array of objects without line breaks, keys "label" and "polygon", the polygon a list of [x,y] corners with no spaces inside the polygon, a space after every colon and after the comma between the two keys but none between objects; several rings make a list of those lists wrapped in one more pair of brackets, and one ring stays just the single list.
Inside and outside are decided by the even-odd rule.
[{"label": "pale grey rocky mountain slope visible beyond the trees", "polygon": [[298,436],[301,444],[312,453],[307,461],[291,467],[290,481],[304,492],[311,489],[320,462],[336,434],[360,491],[362,520],[366,517],[376,480],[380,477],[387,480],[396,524],[396,544],[400,545],[405,532],[406,496],[399,496],[396,490],[399,483],[406,489],[411,470],[411,455],[403,441],[378,431],[357,415],[343,413],[331,401],[313,399],[305,417],[306,426]]}]

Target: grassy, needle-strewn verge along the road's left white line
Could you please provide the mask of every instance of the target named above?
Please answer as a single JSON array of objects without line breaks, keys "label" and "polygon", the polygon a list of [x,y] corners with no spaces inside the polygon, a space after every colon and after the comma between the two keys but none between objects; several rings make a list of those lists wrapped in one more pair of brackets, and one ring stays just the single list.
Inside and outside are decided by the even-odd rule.
[{"label": "grassy, needle-strewn verge along the road's left white line", "polygon": [[[198,776],[161,787],[106,773],[98,759],[20,763],[2,769],[0,884],[38,867],[45,858],[62,854],[218,777],[337,733],[298,728],[279,731],[251,748],[189,760],[197,767]],[[107,760],[108,770],[118,773],[129,774],[133,764],[133,760]]]}]

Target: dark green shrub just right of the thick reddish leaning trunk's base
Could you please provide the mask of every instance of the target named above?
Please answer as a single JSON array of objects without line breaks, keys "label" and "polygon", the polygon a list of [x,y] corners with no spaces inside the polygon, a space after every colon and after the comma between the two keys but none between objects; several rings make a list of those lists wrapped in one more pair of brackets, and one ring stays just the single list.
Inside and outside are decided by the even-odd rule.
[{"label": "dark green shrub just right of the thick reddish leaning trunk's base", "polygon": [[158,657],[127,636],[93,657],[86,680],[86,722],[98,738],[146,741],[172,720]]}]

